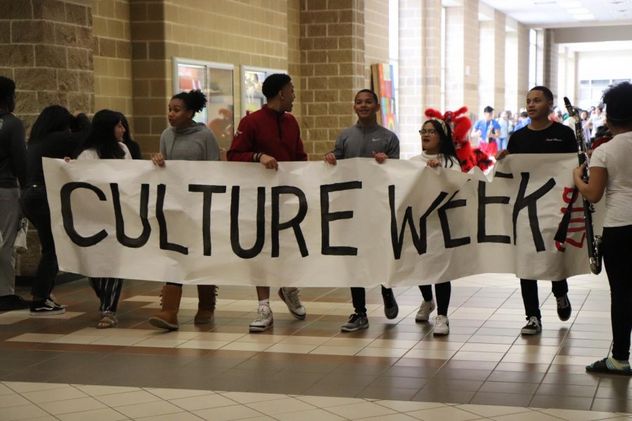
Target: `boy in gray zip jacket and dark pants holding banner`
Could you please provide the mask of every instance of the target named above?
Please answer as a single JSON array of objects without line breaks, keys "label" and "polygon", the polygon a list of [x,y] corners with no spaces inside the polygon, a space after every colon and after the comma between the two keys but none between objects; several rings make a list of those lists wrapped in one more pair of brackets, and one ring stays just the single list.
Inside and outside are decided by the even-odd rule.
[{"label": "boy in gray zip jacket and dark pants holding banner", "polygon": [[[378,163],[386,159],[400,158],[400,140],[397,135],[377,123],[377,112],[380,109],[376,93],[370,89],[362,89],[355,95],[353,111],[357,114],[357,124],[338,135],[332,152],[324,156],[324,161],[336,165],[337,159],[345,158],[375,158]],[[399,313],[392,288],[382,286],[384,299],[384,314],[387,319],[395,319]],[[354,313],[343,326],[343,332],[369,328],[367,319],[366,291],[362,287],[351,287],[351,299]]]}]

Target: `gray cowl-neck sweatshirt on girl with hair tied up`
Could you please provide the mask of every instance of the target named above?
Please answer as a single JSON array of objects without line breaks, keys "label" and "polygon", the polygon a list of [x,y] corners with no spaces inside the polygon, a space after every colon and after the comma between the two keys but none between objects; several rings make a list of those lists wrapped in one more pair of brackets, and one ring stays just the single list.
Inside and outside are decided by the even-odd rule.
[{"label": "gray cowl-neck sweatshirt on girl with hair tied up", "polygon": [[213,132],[204,123],[187,128],[166,128],[160,135],[160,152],[165,159],[219,161],[220,151]]}]

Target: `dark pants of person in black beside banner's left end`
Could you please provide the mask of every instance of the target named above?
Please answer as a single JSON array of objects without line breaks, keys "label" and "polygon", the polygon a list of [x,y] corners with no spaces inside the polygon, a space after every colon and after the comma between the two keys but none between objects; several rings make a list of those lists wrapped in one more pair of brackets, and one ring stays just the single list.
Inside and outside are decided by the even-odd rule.
[{"label": "dark pants of person in black beside banner's left end", "polygon": [[37,229],[41,243],[41,259],[31,287],[31,294],[39,300],[48,298],[59,272],[55,242],[51,232],[51,210],[46,199],[46,187],[27,187],[20,198],[22,213]]}]

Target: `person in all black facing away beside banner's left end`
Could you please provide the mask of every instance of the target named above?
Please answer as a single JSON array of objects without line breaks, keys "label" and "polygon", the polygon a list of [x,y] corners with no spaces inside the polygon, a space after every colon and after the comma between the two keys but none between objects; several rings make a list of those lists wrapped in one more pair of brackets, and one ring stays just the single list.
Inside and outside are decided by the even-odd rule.
[{"label": "person in all black facing away beside banner's left end", "polygon": [[[77,119],[88,118],[80,114]],[[80,127],[67,109],[60,105],[44,108],[33,124],[27,149],[27,182],[20,204],[22,213],[31,221],[41,244],[41,258],[31,288],[33,302],[31,316],[62,314],[63,306],[51,298],[55,278],[59,272],[55,243],[51,232],[51,210],[46,198],[42,158],[64,158],[70,156],[85,133],[72,133],[70,127]],[[86,121],[81,121],[86,123]],[[89,123],[89,120],[87,121]]]}]

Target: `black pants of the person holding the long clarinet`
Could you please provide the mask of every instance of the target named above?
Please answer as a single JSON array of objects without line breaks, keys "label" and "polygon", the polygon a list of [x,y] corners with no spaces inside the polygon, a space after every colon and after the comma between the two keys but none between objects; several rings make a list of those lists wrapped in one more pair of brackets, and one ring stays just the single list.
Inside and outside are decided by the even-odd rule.
[{"label": "black pants of the person holding the long clarinet", "polygon": [[612,322],[612,357],[630,359],[632,333],[632,225],[604,227],[603,260],[610,282],[610,320]]}]

